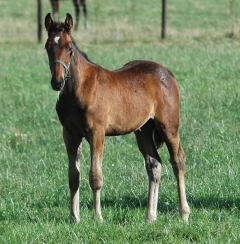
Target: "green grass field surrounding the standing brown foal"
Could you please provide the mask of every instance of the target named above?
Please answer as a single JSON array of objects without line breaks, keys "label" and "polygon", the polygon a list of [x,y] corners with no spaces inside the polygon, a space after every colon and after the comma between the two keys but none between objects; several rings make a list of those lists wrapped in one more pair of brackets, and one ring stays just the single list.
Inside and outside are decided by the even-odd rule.
[{"label": "green grass field surrounding the standing brown foal", "polygon": [[[188,224],[179,219],[163,147],[158,220],[145,223],[147,174],[130,134],[106,140],[104,223],[92,219],[84,141],[81,223],[70,224],[67,155],[44,42],[37,43],[37,1],[0,0],[0,243],[240,243],[240,5],[215,2],[168,1],[162,41],[160,0],[87,1],[89,29],[81,18],[73,37],[93,62],[116,69],[153,60],[179,82],[192,212]],[[45,16],[51,10],[43,4]],[[61,19],[75,18],[73,11],[63,1]]]}]

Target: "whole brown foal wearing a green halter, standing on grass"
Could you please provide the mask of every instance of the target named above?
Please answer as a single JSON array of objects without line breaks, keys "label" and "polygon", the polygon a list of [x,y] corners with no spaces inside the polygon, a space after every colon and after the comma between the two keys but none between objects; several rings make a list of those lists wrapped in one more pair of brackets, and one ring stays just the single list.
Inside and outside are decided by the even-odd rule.
[{"label": "whole brown foal wearing a green halter, standing on grass", "polygon": [[190,213],[185,194],[185,158],[179,140],[179,88],[174,75],[162,65],[135,60],[109,71],[92,63],[81,52],[67,14],[64,23],[45,17],[45,44],[53,90],[60,91],[56,110],[63,126],[69,167],[70,218],[79,216],[80,153],[82,139],[90,144],[89,182],[95,216],[102,220],[100,191],[103,185],[102,159],[105,136],[134,132],[145,159],[149,180],[146,220],[157,218],[161,159],[154,144],[166,143],[177,179],[179,212],[187,221]]}]

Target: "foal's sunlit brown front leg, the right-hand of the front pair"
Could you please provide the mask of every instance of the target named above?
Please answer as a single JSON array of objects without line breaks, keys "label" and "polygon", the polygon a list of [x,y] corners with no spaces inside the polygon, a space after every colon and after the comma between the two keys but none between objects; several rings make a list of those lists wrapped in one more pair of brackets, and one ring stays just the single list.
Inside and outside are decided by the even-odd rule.
[{"label": "foal's sunlit brown front leg, the right-hand of the front pair", "polygon": [[104,149],[105,133],[95,130],[89,138],[91,148],[91,167],[89,171],[89,183],[93,192],[93,207],[95,217],[103,221],[100,203],[100,191],[103,185],[102,158]]}]

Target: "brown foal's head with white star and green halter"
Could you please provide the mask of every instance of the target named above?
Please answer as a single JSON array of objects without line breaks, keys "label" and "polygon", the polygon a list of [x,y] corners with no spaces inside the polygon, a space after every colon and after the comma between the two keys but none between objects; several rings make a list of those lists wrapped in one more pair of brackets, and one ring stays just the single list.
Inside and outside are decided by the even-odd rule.
[{"label": "brown foal's head with white star and green halter", "polygon": [[73,58],[71,30],[73,20],[67,14],[64,23],[53,22],[51,14],[45,17],[45,27],[48,32],[48,39],[45,44],[49,58],[49,66],[52,73],[52,88],[60,91],[65,85],[65,80],[69,78],[68,69]]}]

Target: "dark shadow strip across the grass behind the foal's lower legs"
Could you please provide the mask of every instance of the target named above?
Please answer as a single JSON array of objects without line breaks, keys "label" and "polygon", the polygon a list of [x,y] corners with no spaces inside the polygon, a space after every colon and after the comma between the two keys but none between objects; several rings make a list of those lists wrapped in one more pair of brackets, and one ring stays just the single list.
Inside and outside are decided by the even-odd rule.
[{"label": "dark shadow strip across the grass behind the foal's lower legs", "polygon": [[[158,199],[158,211],[160,212],[169,212],[176,210],[178,208],[177,196],[174,196],[174,199],[170,199],[167,195],[160,195]],[[231,211],[233,208],[240,209],[240,199],[234,197],[218,197],[209,195],[206,197],[188,197],[188,203],[190,207],[194,208],[209,208],[209,209],[225,209]],[[62,199],[48,199],[41,202],[32,204],[32,207],[41,208],[61,208],[69,205],[69,198]],[[121,195],[117,196],[106,196],[101,199],[101,206],[103,208],[118,208],[118,209],[137,209],[137,208],[146,208],[147,207],[147,196],[145,194],[133,196],[133,195]],[[81,209],[93,209],[92,199],[84,200],[81,198],[80,203]]]}]

